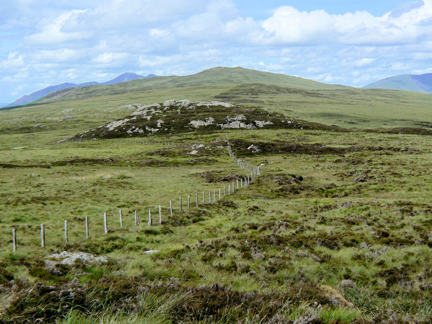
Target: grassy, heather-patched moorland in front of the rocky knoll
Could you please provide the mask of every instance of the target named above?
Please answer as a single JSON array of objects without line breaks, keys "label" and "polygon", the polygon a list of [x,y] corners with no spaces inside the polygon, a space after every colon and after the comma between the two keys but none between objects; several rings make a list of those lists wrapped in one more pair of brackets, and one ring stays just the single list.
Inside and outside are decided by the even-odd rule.
[{"label": "grassy, heather-patched moorland in front of the rocky knoll", "polygon": [[[53,133],[47,131],[43,138]],[[156,140],[205,144],[224,134],[185,133]],[[8,283],[14,277],[21,291],[12,305],[2,303],[7,318],[22,313],[64,322],[265,322],[316,314],[323,322],[350,322],[388,320],[388,309],[399,319],[410,314],[427,321],[432,315],[427,289],[432,277],[429,136],[230,130],[239,157],[264,163],[262,176],[211,204],[201,203],[202,191],[213,193],[228,181],[207,182],[207,175],[245,175],[224,149],[204,149],[192,158],[181,147],[109,141],[50,144],[35,138],[27,148],[14,150],[17,135],[1,138],[2,163],[19,165],[0,169],[0,279]],[[245,150],[248,141],[268,145],[251,154]],[[305,149],[277,153],[269,145],[275,141],[280,148],[295,143]],[[349,150],[311,154],[306,148],[314,143]],[[405,147],[412,150],[400,150]],[[161,149],[166,153],[160,155]],[[301,175],[303,181],[295,182],[291,175]],[[192,209],[179,211],[178,197],[186,206],[188,194]],[[146,223],[149,208],[151,228]],[[134,225],[134,210],[141,216],[140,226]],[[104,212],[108,235],[103,234]],[[88,240],[85,216],[90,220]],[[63,239],[64,219],[69,220],[69,245]],[[40,223],[46,224],[46,250],[39,247]],[[11,254],[12,227],[18,233],[16,256]],[[66,266],[60,274],[44,270],[44,258],[65,249],[105,254],[110,262]],[[143,253],[150,249],[159,251]],[[73,303],[50,299],[74,277],[79,284],[73,288]],[[344,280],[352,284],[344,286]],[[42,286],[29,294],[38,282]],[[59,290],[50,295],[53,288],[43,285]],[[144,298],[157,296],[156,301],[130,299],[143,289]],[[178,294],[189,297],[178,299]],[[261,298],[266,302],[254,304]],[[206,300],[209,304],[202,304]],[[165,303],[171,306],[158,306]]]}]

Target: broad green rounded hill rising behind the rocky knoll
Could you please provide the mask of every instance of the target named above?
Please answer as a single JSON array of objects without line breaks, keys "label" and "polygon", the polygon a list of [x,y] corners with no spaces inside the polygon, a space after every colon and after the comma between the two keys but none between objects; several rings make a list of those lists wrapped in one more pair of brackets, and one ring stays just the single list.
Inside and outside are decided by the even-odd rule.
[{"label": "broad green rounded hill rising behind the rocky knoll", "polygon": [[[255,83],[244,83],[252,81]],[[197,83],[207,85],[191,86]],[[319,87],[324,89],[316,89]],[[124,118],[131,111],[130,104],[151,104],[168,99],[228,101],[342,127],[432,125],[432,95],[343,88],[284,75],[220,67],[194,76],[154,77],[58,91],[53,97],[44,98],[46,103],[0,110],[0,134],[26,136],[51,130],[51,134],[57,134],[51,140],[59,140]],[[22,137],[23,142],[27,139]]]}]

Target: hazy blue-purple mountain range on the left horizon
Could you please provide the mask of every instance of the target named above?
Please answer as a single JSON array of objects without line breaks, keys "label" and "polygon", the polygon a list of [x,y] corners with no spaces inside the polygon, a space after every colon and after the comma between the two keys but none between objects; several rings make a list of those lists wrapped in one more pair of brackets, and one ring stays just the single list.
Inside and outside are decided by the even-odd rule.
[{"label": "hazy blue-purple mountain range on the left horizon", "polygon": [[99,84],[99,85],[114,84],[114,83],[131,81],[131,80],[135,80],[135,79],[145,79],[145,78],[152,78],[152,77],[155,77],[155,75],[149,74],[148,76],[142,76],[142,75],[138,75],[135,73],[126,72],[126,73],[119,75],[117,78],[114,78],[112,80],[102,82],[102,83],[99,83],[96,81],[89,81],[89,82],[83,82],[83,83],[79,83],[79,84],[61,83],[61,84],[57,84],[57,85],[50,85],[50,86],[43,88],[41,90],[32,92],[30,95],[22,96],[21,98],[15,100],[14,102],[12,102],[10,104],[5,104],[5,105],[0,104],[0,107],[13,107],[13,106],[25,105],[25,104],[28,104],[29,102],[32,102],[32,101],[35,101],[35,100],[40,99],[42,97],[45,97],[45,96],[51,94],[51,92],[63,90],[66,88],[85,87],[88,85],[95,85],[95,84]]}]

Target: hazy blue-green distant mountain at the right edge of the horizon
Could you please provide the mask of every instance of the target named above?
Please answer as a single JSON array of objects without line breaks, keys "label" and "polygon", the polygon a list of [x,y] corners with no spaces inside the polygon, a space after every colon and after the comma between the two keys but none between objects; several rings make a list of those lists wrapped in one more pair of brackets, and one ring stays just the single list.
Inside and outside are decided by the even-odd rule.
[{"label": "hazy blue-green distant mountain at the right edge of the horizon", "polygon": [[363,86],[363,88],[395,89],[432,94],[432,73],[398,75]]}]

